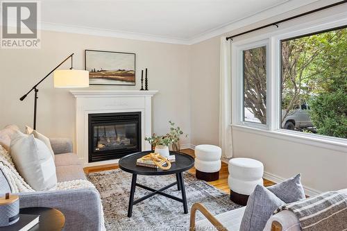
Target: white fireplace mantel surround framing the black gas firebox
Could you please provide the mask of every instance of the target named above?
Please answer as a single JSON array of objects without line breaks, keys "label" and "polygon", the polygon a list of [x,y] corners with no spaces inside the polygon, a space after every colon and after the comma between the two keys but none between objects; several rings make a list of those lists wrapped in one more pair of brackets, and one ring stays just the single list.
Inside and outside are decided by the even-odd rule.
[{"label": "white fireplace mantel surround framing the black gas firebox", "polygon": [[88,162],[88,114],[112,112],[141,112],[142,150],[150,150],[144,142],[151,135],[151,98],[158,91],[139,90],[71,90],[76,98],[76,152],[84,166],[111,164],[118,160]]}]

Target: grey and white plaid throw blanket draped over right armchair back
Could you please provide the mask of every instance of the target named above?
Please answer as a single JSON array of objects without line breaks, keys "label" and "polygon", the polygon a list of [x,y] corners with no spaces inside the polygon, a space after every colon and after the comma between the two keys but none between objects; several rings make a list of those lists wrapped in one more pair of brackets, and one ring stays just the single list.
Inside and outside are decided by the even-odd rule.
[{"label": "grey and white plaid throw blanket draped over right armchair back", "polygon": [[347,230],[347,194],[328,191],[319,196],[282,205],[282,210],[294,212],[298,217],[301,230]]}]

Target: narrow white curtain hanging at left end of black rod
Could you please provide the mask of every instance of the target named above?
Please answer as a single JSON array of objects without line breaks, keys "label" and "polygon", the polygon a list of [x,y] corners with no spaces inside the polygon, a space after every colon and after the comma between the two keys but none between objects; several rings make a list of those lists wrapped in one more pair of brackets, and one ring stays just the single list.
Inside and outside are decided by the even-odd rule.
[{"label": "narrow white curtain hanging at left end of black rod", "polygon": [[232,157],[231,124],[231,47],[226,37],[221,37],[219,67],[219,146],[223,157]]}]

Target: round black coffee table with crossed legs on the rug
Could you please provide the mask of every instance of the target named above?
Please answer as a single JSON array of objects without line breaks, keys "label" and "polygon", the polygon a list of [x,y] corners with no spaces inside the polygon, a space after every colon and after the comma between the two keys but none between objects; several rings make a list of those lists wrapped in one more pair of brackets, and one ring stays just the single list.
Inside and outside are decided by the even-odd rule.
[{"label": "round black coffee table with crossed legs on the rug", "polygon": [[[192,166],[194,166],[194,158],[184,153],[170,151],[170,155],[175,155],[176,162],[171,163],[171,169],[169,170],[152,169],[149,167],[136,165],[137,159],[151,152],[152,151],[143,151],[139,153],[133,153],[130,155],[126,155],[125,157],[122,157],[121,160],[119,160],[119,168],[121,170],[127,171],[128,173],[133,173],[133,178],[131,180],[131,187],[130,187],[128,217],[130,217],[131,214],[133,213],[133,205],[136,205],[137,203],[140,203],[141,201],[146,200],[150,198],[151,196],[154,196],[155,194],[160,194],[162,196],[166,196],[167,198],[171,198],[173,200],[179,201],[180,203],[183,203],[183,210],[185,214],[187,214],[188,213],[187,197],[185,196],[185,182],[184,182],[182,173],[183,171],[187,171],[188,169],[191,169]],[[136,182],[137,175],[164,176],[164,175],[171,175],[171,174],[176,174],[177,181],[171,183],[170,185],[162,187],[161,189],[152,189],[150,187],[140,185]],[[169,189],[170,187],[173,187],[174,185],[177,185],[178,190],[181,191],[182,199],[176,196],[171,196],[170,194],[166,194],[163,192],[164,190]],[[136,186],[142,189],[151,191],[151,193],[147,194],[146,196],[142,198],[134,200]]]}]

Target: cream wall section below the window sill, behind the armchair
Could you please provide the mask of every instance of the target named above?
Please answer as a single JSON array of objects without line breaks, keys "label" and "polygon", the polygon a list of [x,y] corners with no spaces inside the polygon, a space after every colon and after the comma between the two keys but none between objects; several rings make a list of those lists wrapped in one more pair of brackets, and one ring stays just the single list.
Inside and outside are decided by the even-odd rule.
[{"label": "cream wall section below the window sill, behind the armchair", "polygon": [[[255,134],[248,130],[234,130],[235,157],[252,157],[264,164],[270,180],[302,174],[303,185],[314,191],[347,188],[347,153],[317,148]],[[268,175],[268,176],[269,176]],[[272,179],[272,177],[275,179]]]}]

